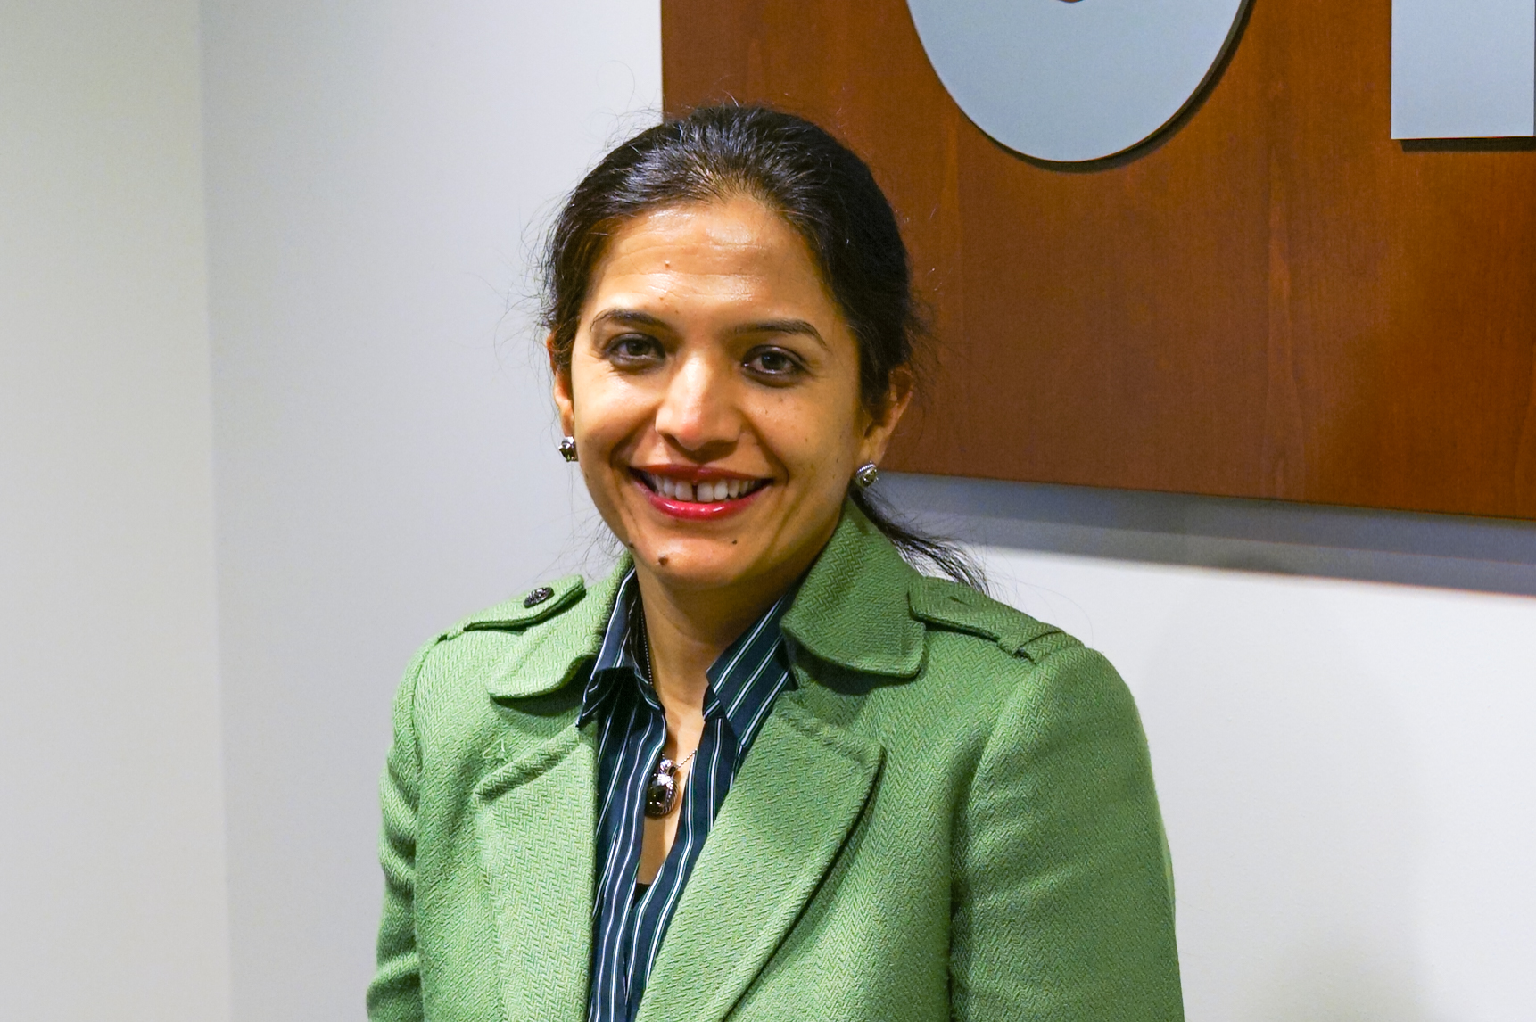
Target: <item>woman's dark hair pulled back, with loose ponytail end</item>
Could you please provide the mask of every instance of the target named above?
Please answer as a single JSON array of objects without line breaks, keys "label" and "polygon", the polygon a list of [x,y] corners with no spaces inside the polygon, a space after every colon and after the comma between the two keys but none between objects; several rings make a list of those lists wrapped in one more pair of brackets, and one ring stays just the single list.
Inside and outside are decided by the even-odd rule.
[{"label": "woman's dark hair pulled back, with loose ponytail end", "polygon": [[[774,210],[811,249],[859,342],[865,407],[886,401],[891,373],[914,367],[922,336],[906,246],[869,167],[811,121],[760,106],[708,106],[616,147],[582,178],[550,229],[542,321],[556,371],[567,371],[582,304],[608,238],[664,206],[745,195]],[[868,491],[848,496],[908,560],[983,588],[952,545],[892,520]]]}]

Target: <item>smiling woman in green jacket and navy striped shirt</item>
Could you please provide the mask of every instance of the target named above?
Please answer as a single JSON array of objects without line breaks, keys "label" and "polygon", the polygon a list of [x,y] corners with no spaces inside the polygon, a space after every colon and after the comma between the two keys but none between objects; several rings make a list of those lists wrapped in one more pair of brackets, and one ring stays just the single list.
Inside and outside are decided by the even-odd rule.
[{"label": "smiling woman in green jacket and navy striped shirt", "polygon": [[865,164],[697,110],[578,186],[547,279],[625,556],[410,666],[370,1016],[1181,1017],[1130,695],[865,493],[915,384]]}]

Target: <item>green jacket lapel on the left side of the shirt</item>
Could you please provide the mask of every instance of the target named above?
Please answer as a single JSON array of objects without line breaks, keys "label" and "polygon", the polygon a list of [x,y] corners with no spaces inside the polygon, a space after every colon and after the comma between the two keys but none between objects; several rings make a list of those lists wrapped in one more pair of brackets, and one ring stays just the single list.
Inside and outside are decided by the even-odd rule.
[{"label": "green jacket lapel on the left side of the shirt", "polygon": [[508,1022],[587,1016],[594,801],[594,743],[576,727],[475,786]]}]

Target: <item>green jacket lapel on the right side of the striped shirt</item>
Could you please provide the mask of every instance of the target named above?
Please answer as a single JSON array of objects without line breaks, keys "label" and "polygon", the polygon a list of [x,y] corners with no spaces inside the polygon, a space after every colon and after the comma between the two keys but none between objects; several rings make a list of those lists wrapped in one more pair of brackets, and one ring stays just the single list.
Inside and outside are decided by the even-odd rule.
[{"label": "green jacket lapel on the right side of the striped shirt", "polygon": [[731,784],[651,968],[636,1022],[717,1022],[816,893],[883,750],[785,692]]}]

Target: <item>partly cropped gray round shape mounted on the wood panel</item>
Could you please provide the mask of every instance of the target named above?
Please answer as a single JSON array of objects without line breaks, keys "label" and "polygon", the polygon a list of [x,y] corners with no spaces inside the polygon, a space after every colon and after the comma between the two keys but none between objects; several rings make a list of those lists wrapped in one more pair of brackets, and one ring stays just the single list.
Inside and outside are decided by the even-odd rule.
[{"label": "partly cropped gray round shape mounted on the wood panel", "polygon": [[1246,0],[908,0],[949,95],[1037,160],[1101,160],[1200,95]]}]

